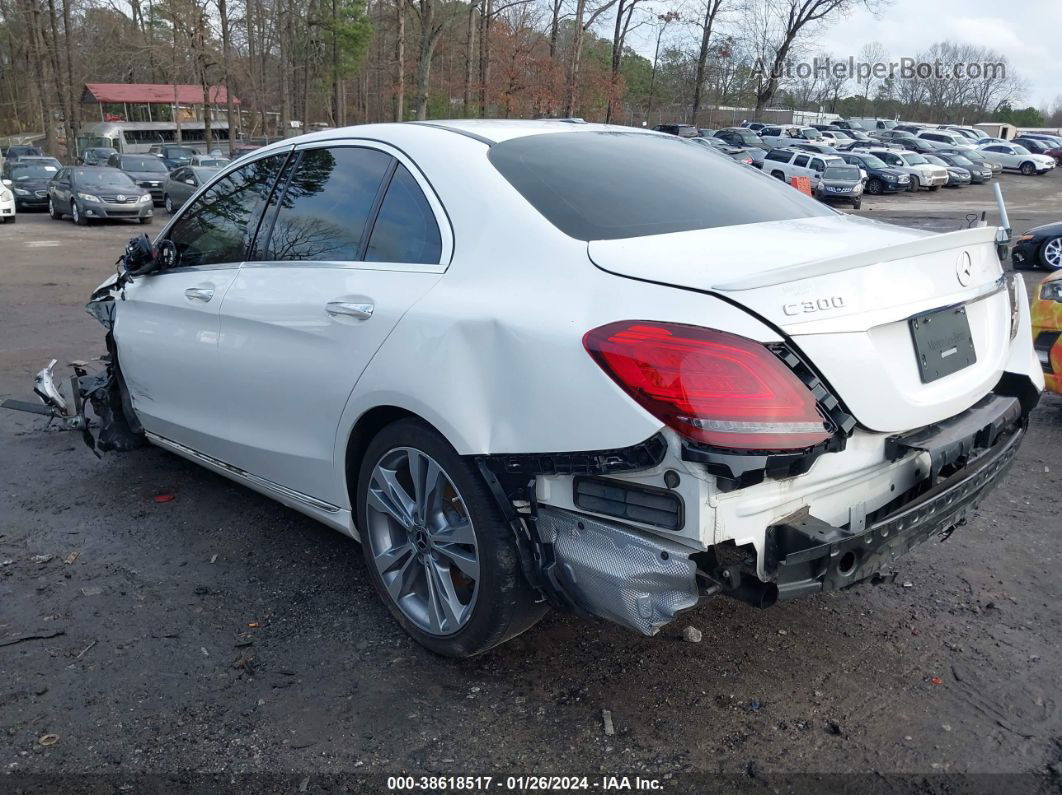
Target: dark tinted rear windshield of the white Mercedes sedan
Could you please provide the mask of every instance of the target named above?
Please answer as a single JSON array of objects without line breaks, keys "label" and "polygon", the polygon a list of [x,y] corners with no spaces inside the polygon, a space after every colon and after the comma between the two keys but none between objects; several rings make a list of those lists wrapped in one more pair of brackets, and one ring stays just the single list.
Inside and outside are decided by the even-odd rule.
[{"label": "dark tinted rear windshield of the white Mercedes sedan", "polygon": [[491,146],[491,162],[553,226],[616,240],[834,211],[674,136],[553,133]]}]

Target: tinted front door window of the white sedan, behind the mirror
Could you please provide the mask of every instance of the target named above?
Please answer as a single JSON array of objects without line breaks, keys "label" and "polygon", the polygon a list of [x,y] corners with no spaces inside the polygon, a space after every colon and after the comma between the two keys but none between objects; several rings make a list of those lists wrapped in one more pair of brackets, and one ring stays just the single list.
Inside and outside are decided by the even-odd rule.
[{"label": "tinted front door window of the white sedan, behind the mirror", "polygon": [[286,157],[284,153],[250,162],[226,174],[189,205],[170,229],[169,239],[177,248],[176,265],[242,261],[249,228]]}]

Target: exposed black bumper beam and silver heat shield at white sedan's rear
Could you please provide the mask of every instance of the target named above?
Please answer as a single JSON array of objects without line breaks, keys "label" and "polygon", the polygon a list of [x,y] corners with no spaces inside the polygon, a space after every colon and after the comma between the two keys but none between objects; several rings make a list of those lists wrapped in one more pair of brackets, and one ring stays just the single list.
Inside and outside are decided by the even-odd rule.
[{"label": "exposed black bumper beam and silver heat shield at white sedan's rear", "polygon": [[913,547],[949,535],[1014,461],[1027,413],[1017,398],[990,395],[936,426],[891,437],[887,457],[918,456],[925,477],[908,492],[836,526],[808,509],[766,529],[761,570],[729,547],[697,552],[663,535],[538,503],[537,569],[554,602],[655,635],[701,597],[721,592],[760,607],[846,588]]}]

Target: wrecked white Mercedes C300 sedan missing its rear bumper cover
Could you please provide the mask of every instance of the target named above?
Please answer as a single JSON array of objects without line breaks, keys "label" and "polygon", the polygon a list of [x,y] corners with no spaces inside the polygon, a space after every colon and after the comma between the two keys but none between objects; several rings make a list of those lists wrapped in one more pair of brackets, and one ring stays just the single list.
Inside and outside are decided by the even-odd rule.
[{"label": "wrecked white Mercedes C300 sedan missing its rear bumper cover", "polygon": [[[1007,471],[1043,387],[994,228],[839,213],[674,136],[378,124],[224,167],[89,311],[47,411],[360,539],[467,656],[872,577]],[[931,554],[931,553],[929,553]]]}]

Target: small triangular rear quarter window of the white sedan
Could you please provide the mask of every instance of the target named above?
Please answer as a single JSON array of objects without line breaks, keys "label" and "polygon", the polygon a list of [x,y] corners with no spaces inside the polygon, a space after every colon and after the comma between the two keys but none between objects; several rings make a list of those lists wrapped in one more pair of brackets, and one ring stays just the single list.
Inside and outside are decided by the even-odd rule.
[{"label": "small triangular rear quarter window of the white sedan", "polygon": [[442,250],[435,213],[413,175],[399,165],[373,224],[365,260],[438,264]]}]

